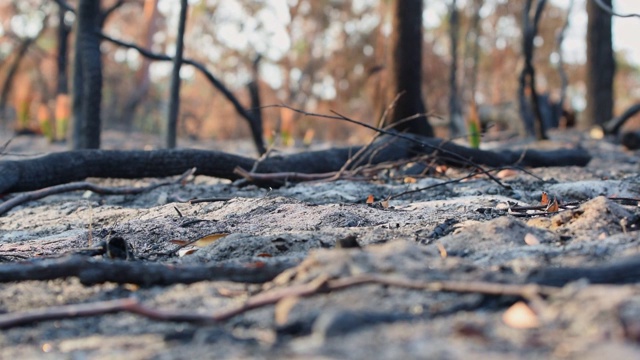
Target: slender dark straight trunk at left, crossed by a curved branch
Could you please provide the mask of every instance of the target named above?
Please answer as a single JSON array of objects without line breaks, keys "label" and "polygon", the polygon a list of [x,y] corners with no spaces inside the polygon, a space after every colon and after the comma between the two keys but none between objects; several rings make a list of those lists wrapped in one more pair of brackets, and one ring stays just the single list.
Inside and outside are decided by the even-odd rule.
[{"label": "slender dark straight trunk at left, crossed by a curved branch", "polygon": [[171,87],[169,94],[169,113],[165,127],[165,146],[169,149],[176,147],[178,115],[180,114],[180,68],[182,67],[182,52],[184,50],[184,32],[187,25],[187,0],[180,0],[180,20],[178,34],[176,35],[176,54],[173,57],[173,72],[171,74]]}]

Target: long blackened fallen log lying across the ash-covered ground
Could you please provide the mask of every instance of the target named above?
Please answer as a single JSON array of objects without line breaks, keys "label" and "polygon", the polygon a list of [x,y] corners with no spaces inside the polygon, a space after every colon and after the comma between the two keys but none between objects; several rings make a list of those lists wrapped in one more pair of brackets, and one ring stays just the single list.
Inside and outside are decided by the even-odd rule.
[{"label": "long blackened fallen log lying across the ash-covered ground", "polygon": [[[275,155],[259,161],[253,172],[297,172],[304,174],[338,171],[362,147],[343,147]],[[591,156],[584,149],[552,151],[470,149],[438,138],[396,134],[382,136],[360,156],[360,163],[378,164],[434,155],[449,165],[490,167],[585,166]],[[0,162],[0,194],[42,189],[79,181],[88,177],[126,178],[165,177],[196,168],[196,175],[229,180],[240,178],[236,167],[249,170],[256,159],[213,150],[77,150],[52,153],[39,158]],[[261,186],[279,184],[259,183]]]}]

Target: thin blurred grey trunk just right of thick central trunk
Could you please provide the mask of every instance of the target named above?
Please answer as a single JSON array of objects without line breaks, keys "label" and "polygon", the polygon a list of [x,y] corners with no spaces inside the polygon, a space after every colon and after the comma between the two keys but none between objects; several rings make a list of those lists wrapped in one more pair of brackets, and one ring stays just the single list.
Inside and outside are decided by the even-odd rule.
[{"label": "thin blurred grey trunk just right of thick central trunk", "polygon": [[449,10],[449,40],[451,43],[451,65],[449,68],[449,137],[456,138],[465,132],[460,94],[458,91],[458,37],[460,21],[457,1],[451,1]]}]

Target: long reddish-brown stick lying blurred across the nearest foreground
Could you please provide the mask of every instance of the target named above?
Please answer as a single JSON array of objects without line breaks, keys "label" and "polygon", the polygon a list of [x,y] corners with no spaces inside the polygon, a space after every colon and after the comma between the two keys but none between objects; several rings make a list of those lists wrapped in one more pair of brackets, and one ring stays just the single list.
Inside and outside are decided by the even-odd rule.
[{"label": "long reddish-brown stick lying blurred across the nearest foreground", "polygon": [[183,321],[196,324],[211,324],[225,321],[249,310],[277,303],[287,297],[308,297],[319,293],[338,291],[350,287],[379,284],[405,289],[431,292],[476,293],[490,296],[517,296],[539,302],[540,296],[550,296],[559,288],[535,284],[501,284],[472,281],[419,281],[386,275],[356,275],[342,279],[328,280],[320,276],[306,283],[285,288],[268,290],[250,297],[244,304],[207,315],[195,312],[157,310],[143,306],[134,298],[103,301],[90,304],[66,305],[25,312],[0,315],[0,328],[30,324],[45,320],[96,316],[115,312],[130,312],[159,321]]}]

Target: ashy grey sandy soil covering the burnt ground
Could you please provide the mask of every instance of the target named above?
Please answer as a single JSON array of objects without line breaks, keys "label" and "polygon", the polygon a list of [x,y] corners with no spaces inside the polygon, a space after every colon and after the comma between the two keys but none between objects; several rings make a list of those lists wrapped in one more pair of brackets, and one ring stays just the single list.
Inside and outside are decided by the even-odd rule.
[{"label": "ashy grey sandy soil covering the burnt ground", "polygon": [[[68,193],[22,205],[0,217],[0,268],[63,256],[114,237],[130,244],[131,261],[137,262],[299,265],[262,285],[85,286],[76,277],[5,282],[0,284],[0,324],[6,316],[34,309],[129,297],[159,310],[217,314],[264,291],[289,291],[290,296],[207,325],[120,312],[11,326],[0,333],[0,358],[44,353],[73,359],[640,358],[637,280],[577,280],[524,298],[489,295],[482,287],[487,282],[519,286],[545,269],[606,266],[640,254],[637,202],[609,198],[640,197],[640,153],[579,134],[555,138],[531,146],[579,144],[593,160],[585,168],[503,173],[511,189],[476,178],[415,192],[388,206],[366,204],[366,199],[447,179],[260,189],[197,177],[141,195]],[[123,141],[113,134],[109,139],[107,147]],[[40,139],[23,138],[8,149],[14,156],[49,150]],[[447,171],[450,178],[465,174]],[[155,180],[91,181],[142,186]],[[539,205],[543,191],[575,205],[552,214],[509,211]],[[211,197],[229,200],[183,202]],[[176,253],[172,240],[217,233],[229,235],[167,255]],[[345,248],[354,239],[360,247]],[[332,291],[320,286],[308,296],[292,292],[296,286],[328,286],[363,276],[397,283],[374,281]],[[406,286],[437,281],[456,281],[466,290]]]}]

